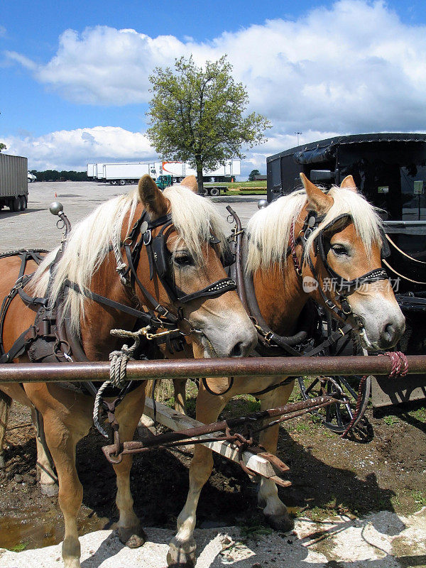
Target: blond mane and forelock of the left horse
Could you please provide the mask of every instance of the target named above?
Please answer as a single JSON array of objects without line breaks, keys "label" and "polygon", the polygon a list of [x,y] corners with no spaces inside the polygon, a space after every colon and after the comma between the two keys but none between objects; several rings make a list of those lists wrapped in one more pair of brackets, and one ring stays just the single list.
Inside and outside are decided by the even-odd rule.
[{"label": "blond mane and forelock of the left horse", "polygon": [[[181,241],[190,253],[202,259],[202,244],[208,241],[212,231],[225,246],[226,222],[218,214],[212,202],[196,195],[183,185],[173,185],[164,191],[170,200],[173,224]],[[129,214],[127,231],[133,224],[138,204],[138,192],[119,195],[99,205],[88,217],[76,224],[67,240],[67,247],[55,268],[50,303],[53,305],[62,292],[65,280],[75,282],[81,290],[88,290],[92,276],[105,261],[111,246],[121,241],[121,227]],[[179,240],[176,241],[176,245]],[[48,287],[50,264],[58,249],[50,252],[40,264],[31,281],[31,293],[42,296]],[[119,276],[117,275],[117,278]],[[28,287],[29,288],[29,287]],[[80,316],[84,317],[84,297],[69,290],[64,306],[64,315],[70,317],[70,327],[80,333]]]}]

